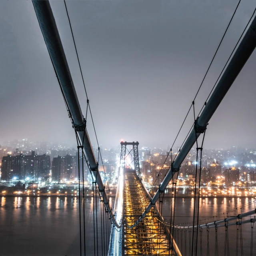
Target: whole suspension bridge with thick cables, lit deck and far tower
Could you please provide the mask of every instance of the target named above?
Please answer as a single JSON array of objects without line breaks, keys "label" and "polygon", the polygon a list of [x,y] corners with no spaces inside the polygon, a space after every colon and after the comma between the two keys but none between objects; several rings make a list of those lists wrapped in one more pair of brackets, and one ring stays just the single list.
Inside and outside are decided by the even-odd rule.
[{"label": "whole suspension bridge with thick cables, lit deck and far tower", "polygon": [[[68,117],[74,128],[78,158],[80,155],[82,156],[82,164],[79,166],[80,255],[88,254],[86,249],[88,244],[86,244],[85,239],[86,227],[84,224],[84,219],[86,218],[86,209],[84,207],[84,162],[88,165],[92,175],[94,255],[255,255],[253,238],[253,227],[256,220],[255,201],[249,202],[233,211],[225,212],[222,216],[214,216],[212,219],[207,218],[204,222],[202,222],[202,219],[199,220],[201,159],[206,129],[212,115],[256,47],[255,10],[198,116],[196,116],[194,111],[198,92],[194,100],[192,100],[188,113],[193,111],[194,123],[184,139],[178,154],[173,158],[172,148],[170,149],[171,165],[162,181],[159,182],[156,191],[153,191],[153,188],[148,190],[142,182],[138,157],[138,141],[121,142],[118,187],[116,198],[112,200],[106,175],[102,177],[98,170],[99,163],[102,162],[103,164],[99,144],[97,156],[92,150],[92,144],[86,127],[88,117],[91,118],[94,127],[86,87],[84,85],[87,107],[85,115],[83,115],[50,3],[49,1],[39,0],[33,0],[32,3],[60,85]],[[65,1],[64,4],[68,15]],[[238,2],[239,4],[240,1]],[[68,20],[70,22],[69,16]],[[70,29],[72,32],[71,22]],[[228,27],[226,28],[227,30]],[[74,40],[73,32],[72,36]],[[74,46],[76,49],[75,40]],[[77,49],[76,55],[84,83]],[[204,79],[202,80],[203,82]],[[187,116],[188,114],[185,120]],[[183,124],[184,122],[182,126]],[[98,143],[95,127],[94,131]],[[200,136],[203,138],[200,139]],[[182,162],[195,144],[197,150],[197,183],[195,184],[194,192],[193,222],[178,223],[175,219],[175,207],[178,207],[176,205],[176,180]],[[130,161],[127,161],[128,158]],[[160,171],[164,170],[161,169]],[[162,203],[164,191],[168,184],[172,184],[172,201],[170,219],[166,220],[162,216]],[[100,202],[100,207],[98,202]],[[220,230],[224,234],[224,239],[221,240],[219,238],[220,235],[218,237]],[[92,254],[89,253],[88,255]]]}]

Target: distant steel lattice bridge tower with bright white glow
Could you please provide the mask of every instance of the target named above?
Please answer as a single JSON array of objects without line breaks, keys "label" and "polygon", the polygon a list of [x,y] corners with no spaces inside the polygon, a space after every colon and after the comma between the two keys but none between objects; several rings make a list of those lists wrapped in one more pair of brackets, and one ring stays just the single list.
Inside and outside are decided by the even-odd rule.
[{"label": "distant steel lattice bridge tower with bright white glow", "polygon": [[[139,178],[140,176],[140,164],[139,164],[139,142],[123,142],[121,141],[121,155],[120,155],[120,167],[130,168],[135,170]],[[130,148],[128,146],[131,146]],[[128,159],[130,161],[128,161]]]}]

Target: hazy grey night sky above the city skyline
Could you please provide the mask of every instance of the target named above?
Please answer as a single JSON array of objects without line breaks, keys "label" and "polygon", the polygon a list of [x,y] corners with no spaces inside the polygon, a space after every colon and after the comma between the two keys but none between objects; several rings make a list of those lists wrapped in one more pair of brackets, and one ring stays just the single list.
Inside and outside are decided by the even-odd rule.
[{"label": "hazy grey night sky above the city skyline", "polygon": [[[50,1],[78,98],[86,96],[63,1]],[[67,1],[99,143],[171,146],[238,0]],[[241,1],[195,101],[202,107],[256,2]],[[210,120],[205,147],[256,148],[256,52]],[[193,123],[184,124],[180,146]],[[0,144],[75,135],[31,1],[0,2]],[[95,144],[91,121],[88,132]]]}]

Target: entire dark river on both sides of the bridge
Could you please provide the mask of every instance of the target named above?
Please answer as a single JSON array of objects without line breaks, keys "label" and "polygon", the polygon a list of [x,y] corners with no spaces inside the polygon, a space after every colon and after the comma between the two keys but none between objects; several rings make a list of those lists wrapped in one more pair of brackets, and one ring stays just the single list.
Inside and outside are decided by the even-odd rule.
[{"label": "entire dark river on both sides of the bridge", "polygon": [[[184,223],[193,220],[193,199],[177,198],[175,222]],[[200,201],[200,218],[226,212],[244,204],[252,198],[205,198]],[[162,214],[170,218],[171,198],[163,201]],[[79,204],[76,198],[33,198],[0,197],[0,255],[1,256],[76,256],[80,255],[79,246]],[[93,204],[92,198],[85,199],[86,206],[86,255],[94,255]],[[100,203],[98,202],[98,209]],[[243,208],[242,212],[254,209],[254,204]],[[239,210],[240,211],[240,210]],[[98,211],[100,222],[100,211]],[[241,211],[240,211],[241,212]],[[238,213],[240,213],[238,212]],[[231,212],[230,216],[237,212]],[[225,215],[226,216],[226,215]],[[96,216],[95,216],[96,218]],[[223,215],[222,217],[223,218]],[[256,229],[256,226],[255,226]],[[250,224],[242,226],[244,256],[250,255]],[[224,255],[224,229],[218,230],[219,256]],[[256,233],[254,231],[256,246]],[[188,239],[188,236],[187,236]],[[177,240],[177,234],[176,234]],[[199,240],[199,236],[198,236]],[[211,254],[214,255],[215,230],[210,231]],[[102,255],[101,229],[98,229],[99,255]],[[184,236],[183,236],[184,248]],[[199,241],[198,241],[199,243]],[[181,236],[179,234],[179,244]],[[203,233],[202,255],[206,255],[206,231]],[[236,226],[229,228],[230,255],[236,255]],[[200,246],[200,244],[199,244]],[[240,246],[240,245],[239,245]],[[240,248],[240,247],[239,247]],[[256,247],[254,247],[256,249]],[[187,245],[188,249],[188,245]],[[182,250],[181,250],[182,252]],[[96,254],[97,255],[97,254]],[[183,251],[182,255],[186,255]],[[199,252],[198,252],[198,255]],[[240,254],[238,254],[240,255]],[[256,251],[254,250],[254,254]]]}]

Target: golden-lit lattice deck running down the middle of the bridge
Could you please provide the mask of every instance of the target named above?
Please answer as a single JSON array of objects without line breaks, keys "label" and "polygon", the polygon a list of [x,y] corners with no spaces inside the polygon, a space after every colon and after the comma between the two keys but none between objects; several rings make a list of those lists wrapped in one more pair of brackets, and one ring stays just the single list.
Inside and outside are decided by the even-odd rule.
[{"label": "golden-lit lattice deck running down the middle of the bridge", "polygon": [[181,255],[174,252],[178,250],[175,242],[177,250],[172,252],[170,249],[170,233],[159,221],[162,217],[156,206],[139,225],[128,228],[138,220],[150,202],[148,192],[134,170],[124,171],[123,196],[122,255]]}]

